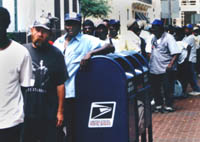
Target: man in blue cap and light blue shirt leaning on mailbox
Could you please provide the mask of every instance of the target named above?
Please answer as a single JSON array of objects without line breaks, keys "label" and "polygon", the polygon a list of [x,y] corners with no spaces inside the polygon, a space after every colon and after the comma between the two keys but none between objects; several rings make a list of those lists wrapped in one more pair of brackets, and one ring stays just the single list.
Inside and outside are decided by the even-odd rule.
[{"label": "man in blue cap and light blue shirt leaning on mailbox", "polygon": [[111,45],[101,47],[98,38],[81,33],[81,15],[70,13],[65,15],[66,34],[58,38],[54,45],[65,56],[69,79],[65,82],[64,117],[67,127],[67,142],[75,141],[75,75],[78,68],[85,67],[89,59],[96,54],[113,52]]}]

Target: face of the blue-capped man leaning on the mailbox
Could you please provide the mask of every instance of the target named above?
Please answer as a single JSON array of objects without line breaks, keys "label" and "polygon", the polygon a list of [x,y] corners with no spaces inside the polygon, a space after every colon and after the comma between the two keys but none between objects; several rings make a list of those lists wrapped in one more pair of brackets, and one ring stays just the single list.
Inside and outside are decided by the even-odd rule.
[{"label": "face of the blue-capped man leaning on the mailbox", "polygon": [[67,36],[75,37],[81,30],[81,23],[78,21],[66,21],[65,30],[68,34]]}]

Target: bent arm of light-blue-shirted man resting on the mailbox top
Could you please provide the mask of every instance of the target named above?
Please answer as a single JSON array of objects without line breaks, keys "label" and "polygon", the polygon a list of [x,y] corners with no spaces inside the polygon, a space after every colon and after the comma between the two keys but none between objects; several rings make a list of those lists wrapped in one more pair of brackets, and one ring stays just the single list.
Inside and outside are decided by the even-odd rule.
[{"label": "bent arm of light-blue-shirted man resting on the mailbox top", "polygon": [[86,66],[90,60],[90,58],[94,55],[106,55],[108,53],[112,53],[115,51],[115,48],[113,45],[111,44],[105,44],[104,46],[102,46],[101,48],[95,49],[93,51],[90,51],[89,53],[87,53],[83,59],[81,60],[80,66],[81,68],[83,68],[84,66]]}]

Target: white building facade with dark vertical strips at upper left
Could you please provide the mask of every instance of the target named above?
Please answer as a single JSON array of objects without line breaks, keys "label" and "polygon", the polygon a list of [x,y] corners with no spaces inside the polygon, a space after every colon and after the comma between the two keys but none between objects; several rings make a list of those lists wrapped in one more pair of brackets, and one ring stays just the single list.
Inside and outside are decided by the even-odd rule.
[{"label": "white building facade with dark vertical strips at upper left", "polygon": [[35,19],[48,14],[59,18],[63,30],[65,13],[80,12],[79,0],[0,0],[0,5],[10,12],[9,32],[27,32]]}]

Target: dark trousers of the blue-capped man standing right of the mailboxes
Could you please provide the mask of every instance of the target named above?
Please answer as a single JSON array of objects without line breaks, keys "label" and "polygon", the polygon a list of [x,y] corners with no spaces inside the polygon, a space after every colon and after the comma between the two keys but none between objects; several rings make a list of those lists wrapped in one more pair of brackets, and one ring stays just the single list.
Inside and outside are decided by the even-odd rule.
[{"label": "dark trousers of the blue-capped man standing right of the mailboxes", "polygon": [[[174,71],[164,74],[150,74],[151,93],[156,106],[165,105],[172,107],[173,105],[173,92],[174,92]],[[162,94],[163,87],[163,94]],[[164,95],[164,96],[163,96]]]}]

